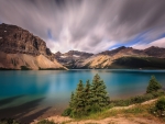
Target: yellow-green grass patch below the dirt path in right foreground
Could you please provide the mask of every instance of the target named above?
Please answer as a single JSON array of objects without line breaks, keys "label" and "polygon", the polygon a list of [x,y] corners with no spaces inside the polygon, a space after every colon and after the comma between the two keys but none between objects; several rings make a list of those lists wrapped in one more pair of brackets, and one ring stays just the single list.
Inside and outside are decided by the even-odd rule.
[{"label": "yellow-green grass patch below the dirt path in right foreground", "polygon": [[157,120],[160,122],[165,122],[165,119],[160,119],[154,116],[150,110],[151,108],[154,108],[155,102],[152,102],[150,104],[141,104],[138,103],[132,108],[128,108],[128,109],[117,109],[117,108],[112,108],[109,110],[105,110],[102,112],[98,112],[98,113],[91,113],[89,116],[82,116],[80,119],[75,119],[75,121],[85,121],[85,120],[103,120],[107,117],[145,117],[148,120]]}]

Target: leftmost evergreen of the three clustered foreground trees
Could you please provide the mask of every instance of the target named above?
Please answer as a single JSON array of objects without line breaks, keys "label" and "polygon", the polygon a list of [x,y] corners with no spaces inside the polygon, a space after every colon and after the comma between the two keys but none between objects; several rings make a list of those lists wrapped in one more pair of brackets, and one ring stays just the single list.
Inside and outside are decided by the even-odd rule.
[{"label": "leftmost evergreen of the three clustered foreground trees", "polygon": [[73,112],[78,116],[85,112],[84,84],[81,80],[77,86],[73,106]]}]

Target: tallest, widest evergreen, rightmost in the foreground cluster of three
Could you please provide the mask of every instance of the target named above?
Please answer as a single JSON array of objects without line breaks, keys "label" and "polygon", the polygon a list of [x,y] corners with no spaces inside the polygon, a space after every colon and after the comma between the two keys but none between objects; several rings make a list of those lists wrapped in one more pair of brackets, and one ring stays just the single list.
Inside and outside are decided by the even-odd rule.
[{"label": "tallest, widest evergreen, rightmost in the foreground cluster of three", "polygon": [[94,77],[91,84],[91,104],[92,111],[101,111],[109,104],[109,97],[106,91],[106,84],[103,80],[100,79],[100,76],[97,74]]}]

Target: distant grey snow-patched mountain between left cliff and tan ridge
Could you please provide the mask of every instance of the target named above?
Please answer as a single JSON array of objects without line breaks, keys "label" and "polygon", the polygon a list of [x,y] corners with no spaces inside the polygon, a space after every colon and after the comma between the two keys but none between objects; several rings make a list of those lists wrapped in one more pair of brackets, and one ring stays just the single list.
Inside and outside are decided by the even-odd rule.
[{"label": "distant grey snow-patched mountain between left cliff and tan ridge", "polygon": [[87,58],[91,57],[94,54],[78,52],[78,50],[69,50],[65,54],[57,52],[54,56],[65,67],[73,69],[76,68],[76,65],[79,64],[81,60],[86,60]]}]

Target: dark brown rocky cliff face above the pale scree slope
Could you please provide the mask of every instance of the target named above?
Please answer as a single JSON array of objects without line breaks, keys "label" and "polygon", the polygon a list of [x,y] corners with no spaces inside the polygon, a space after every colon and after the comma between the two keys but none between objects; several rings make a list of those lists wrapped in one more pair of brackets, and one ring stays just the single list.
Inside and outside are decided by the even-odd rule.
[{"label": "dark brown rocky cliff face above the pale scree slope", "polygon": [[[52,59],[52,53],[43,40],[15,25],[0,24],[0,50],[7,54],[44,55]],[[53,59],[52,59],[53,60]]]}]

